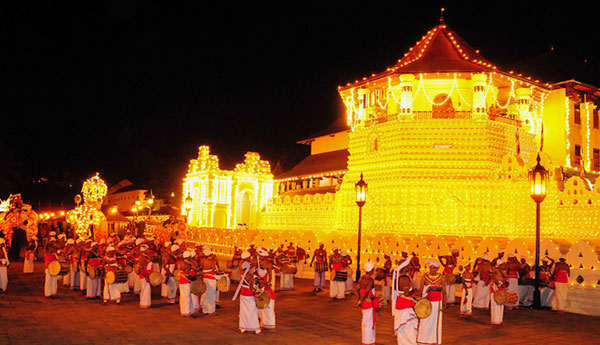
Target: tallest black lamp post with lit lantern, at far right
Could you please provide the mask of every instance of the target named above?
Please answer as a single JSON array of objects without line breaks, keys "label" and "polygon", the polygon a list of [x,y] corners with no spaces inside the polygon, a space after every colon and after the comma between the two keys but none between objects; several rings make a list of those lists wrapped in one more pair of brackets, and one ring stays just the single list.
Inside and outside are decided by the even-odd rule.
[{"label": "tallest black lamp post with lit lantern, at far right", "polygon": [[529,171],[531,198],[535,201],[535,290],[533,292],[533,309],[541,309],[540,295],[540,204],[546,198],[548,170],[540,164],[538,153],[536,166]]}]

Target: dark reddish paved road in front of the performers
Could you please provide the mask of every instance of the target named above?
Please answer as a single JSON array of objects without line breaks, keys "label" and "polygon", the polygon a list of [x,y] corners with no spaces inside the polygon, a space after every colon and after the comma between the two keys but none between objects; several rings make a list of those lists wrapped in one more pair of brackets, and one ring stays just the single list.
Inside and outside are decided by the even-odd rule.
[{"label": "dark reddish paved road in front of the performers", "polygon": [[[43,266],[36,265],[36,272]],[[9,270],[8,294],[0,294],[0,344],[360,344],[356,300],[331,301],[314,295],[312,282],[297,279],[296,290],[278,292],[277,330],[259,335],[237,329],[239,305],[232,292],[222,294],[218,316],[184,319],[178,305],[153,293],[151,309],[139,309],[135,295],[122,305],[103,306],[78,292],[60,288],[59,297],[43,297],[43,274],[24,275],[22,264]],[[600,318],[551,311],[506,311],[504,325],[492,328],[489,315],[461,320],[458,308],[444,313],[444,344],[598,344]],[[378,317],[377,344],[395,344],[389,311]]]}]

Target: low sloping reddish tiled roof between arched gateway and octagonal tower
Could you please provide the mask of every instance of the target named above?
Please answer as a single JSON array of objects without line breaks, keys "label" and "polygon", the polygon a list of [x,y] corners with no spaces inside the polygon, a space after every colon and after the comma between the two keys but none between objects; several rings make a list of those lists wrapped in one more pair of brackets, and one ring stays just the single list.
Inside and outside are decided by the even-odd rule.
[{"label": "low sloping reddish tiled roof between arched gateway and octagonal tower", "polygon": [[348,150],[345,149],[310,155],[292,169],[275,176],[275,179],[281,180],[346,170],[348,169],[348,154]]}]

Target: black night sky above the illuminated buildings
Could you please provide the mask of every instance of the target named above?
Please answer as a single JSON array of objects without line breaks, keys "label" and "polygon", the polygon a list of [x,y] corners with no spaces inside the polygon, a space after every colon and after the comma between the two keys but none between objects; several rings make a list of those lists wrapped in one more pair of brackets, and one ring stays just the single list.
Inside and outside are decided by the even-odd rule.
[{"label": "black night sky above the illuminated buildings", "polygon": [[[0,199],[70,202],[95,172],[180,193],[201,144],[223,169],[246,151],[289,169],[309,153],[297,140],[343,116],[338,85],[394,65],[439,23],[441,4],[417,3],[3,8]],[[551,46],[598,64],[595,16],[580,2],[445,12],[500,66]]]}]

